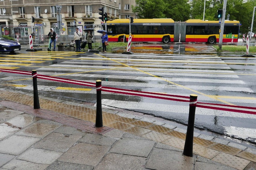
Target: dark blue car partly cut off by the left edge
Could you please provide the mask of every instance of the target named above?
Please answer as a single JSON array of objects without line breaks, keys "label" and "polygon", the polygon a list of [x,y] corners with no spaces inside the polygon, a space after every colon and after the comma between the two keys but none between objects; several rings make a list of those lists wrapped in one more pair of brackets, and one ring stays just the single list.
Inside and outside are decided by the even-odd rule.
[{"label": "dark blue car partly cut off by the left edge", "polygon": [[19,42],[7,40],[6,38],[0,36],[0,52],[19,51],[20,47]]}]

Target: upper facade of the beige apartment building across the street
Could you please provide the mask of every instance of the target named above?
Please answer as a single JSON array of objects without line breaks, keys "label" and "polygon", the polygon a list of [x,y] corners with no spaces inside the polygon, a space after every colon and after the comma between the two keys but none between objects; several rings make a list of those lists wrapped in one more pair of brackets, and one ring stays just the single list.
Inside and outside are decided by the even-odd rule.
[{"label": "upper facade of the beige apartment building across the street", "polygon": [[[135,0],[0,0],[0,25],[57,25],[57,8],[62,6],[62,25],[100,25],[99,8],[109,19],[129,18],[137,16],[132,13],[131,6]],[[32,23],[32,17],[35,22]]]}]

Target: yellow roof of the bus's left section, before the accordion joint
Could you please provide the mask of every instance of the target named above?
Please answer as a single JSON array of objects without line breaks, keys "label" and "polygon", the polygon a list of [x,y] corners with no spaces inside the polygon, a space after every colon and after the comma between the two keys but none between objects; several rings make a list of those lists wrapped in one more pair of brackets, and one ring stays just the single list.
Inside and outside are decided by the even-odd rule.
[{"label": "yellow roof of the bus's left section, before the accordion joint", "polygon": [[[107,23],[129,23],[129,19],[114,19],[112,21],[107,21]],[[133,22],[135,23],[154,23],[154,22],[160,22],[160,23],[170,23],[174,22],[173,19],[170,18],[160,18],[160,19],[133,19]]]}]

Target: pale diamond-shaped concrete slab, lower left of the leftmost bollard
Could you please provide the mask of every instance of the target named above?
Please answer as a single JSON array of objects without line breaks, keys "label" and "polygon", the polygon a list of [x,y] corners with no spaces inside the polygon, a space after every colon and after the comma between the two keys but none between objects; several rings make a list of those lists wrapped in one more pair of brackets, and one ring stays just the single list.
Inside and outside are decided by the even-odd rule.
[{"label": "pale diamond-shaped concrete slab, lower left of the leftmost bollard", "polygon": [[19,128],[25,128],[28,125],[32,124],[34,121],[34,116],[24,113],[24,114],[20,114],[18,116],[15,116],[12,119],[9,119],[8,121],[6,121],[8,123],[9,126],[15,126],[15,127],[19,127]]}]

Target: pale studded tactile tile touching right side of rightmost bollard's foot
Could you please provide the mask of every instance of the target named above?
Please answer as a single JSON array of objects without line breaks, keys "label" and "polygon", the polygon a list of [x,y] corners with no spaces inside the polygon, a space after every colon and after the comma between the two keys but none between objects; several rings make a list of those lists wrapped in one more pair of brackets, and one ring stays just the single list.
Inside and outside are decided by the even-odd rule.
[{"label": "pale studded tactile tile touching right side of rightmost bollard's foot", "polygon": [[216,155],[221,153],[219,151],[215,151],[213,149],[206,148],[206,147],[204,147],[202,145],[198,145],[198,144],[193,145],[193,152],[194,152],[194,154],[200,155],[200,156],[208,158],[208,159],[212,159],[213,157],[215,157]]}]

